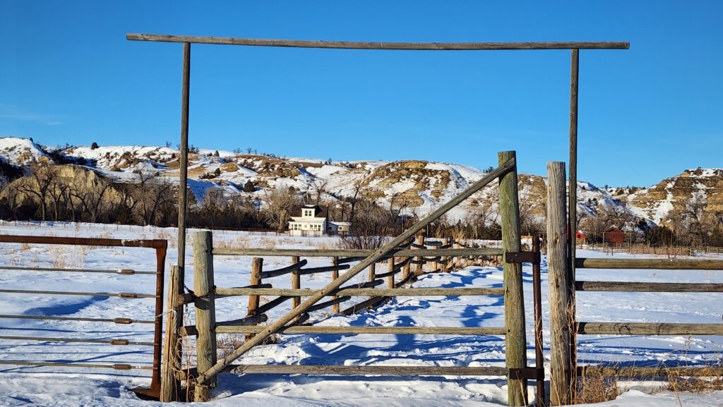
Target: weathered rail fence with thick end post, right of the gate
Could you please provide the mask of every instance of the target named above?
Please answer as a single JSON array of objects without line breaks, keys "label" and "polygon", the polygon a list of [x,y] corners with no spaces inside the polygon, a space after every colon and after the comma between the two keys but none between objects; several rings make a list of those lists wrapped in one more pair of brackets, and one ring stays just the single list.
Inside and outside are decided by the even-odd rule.
[{"label": "weathered rail fence with thick end post, right of the gate", "polygon": [[[723,335],[723,324],[660,322],[585,322],[576,320],[577,291],[703,293],[723,292],[723,283],[642,283],[581,281],[567,263],[565,239],[565,163],[547,165],[547,264],[550,303],[550,400],[553,406],[576,398],[576,377],[586,372],[624,377],[709,376],[723,374],[723,367],[615,367],[578,366],[577,335]],[[576,268],[623,270],[723,270],[723,260],[685,259],[587,259]]]}]

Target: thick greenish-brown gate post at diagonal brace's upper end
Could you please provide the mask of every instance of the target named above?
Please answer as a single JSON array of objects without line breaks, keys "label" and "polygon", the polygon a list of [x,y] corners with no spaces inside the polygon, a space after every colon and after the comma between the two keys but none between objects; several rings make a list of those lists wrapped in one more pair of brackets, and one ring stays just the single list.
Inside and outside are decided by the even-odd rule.
[{"label": "thick greenish-brown gate post at diagonal brace's upper end", "polygon": [[[497,153],[500,166],[511,158],[514,151]],[[502,251],[521,252],[520,206],[517,191],[517,164],[512,171],[500,176],[500,220],[502,221]],[[508,369],[527,367],[527,340],[525,335],[525,304],[522,291],[522,265],[503,262],[505,275],[505,358]],[[527,381],[508,378],[510,406],[527,405]]]}]

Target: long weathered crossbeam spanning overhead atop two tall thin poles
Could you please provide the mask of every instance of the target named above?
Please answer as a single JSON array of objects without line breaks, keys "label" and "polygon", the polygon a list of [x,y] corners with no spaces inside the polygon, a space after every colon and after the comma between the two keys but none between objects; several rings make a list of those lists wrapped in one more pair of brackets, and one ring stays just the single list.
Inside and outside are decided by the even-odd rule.
[{"label": "long weathered crossbeam spanning overhead atop two tall thin poles", "polygon": [[557,41],[557,42],[495,42],[495,43],[390,43],[324,40],[282,40],[264,38],[204,37],[198,35],[168,35],[128,33],[127,40],[164,43],[198,43],[227,46],[270,46],[294,48],[341,48],[414,51],[482,51],[482,50],[542,50],[542,49],[628,49],[623,41]]}]

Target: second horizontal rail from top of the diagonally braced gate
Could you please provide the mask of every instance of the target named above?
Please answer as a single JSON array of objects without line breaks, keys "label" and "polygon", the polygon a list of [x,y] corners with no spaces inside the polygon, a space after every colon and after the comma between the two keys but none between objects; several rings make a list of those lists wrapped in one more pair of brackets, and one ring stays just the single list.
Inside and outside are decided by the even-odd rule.
[{"label": "second horizontal rail from top of the diagonally braced gate", "polygon": [[[320,290],[309,288],[224,288],[216,296],[314,296]],[[502,296],[504,288],[345,288],[329,296]]]}]

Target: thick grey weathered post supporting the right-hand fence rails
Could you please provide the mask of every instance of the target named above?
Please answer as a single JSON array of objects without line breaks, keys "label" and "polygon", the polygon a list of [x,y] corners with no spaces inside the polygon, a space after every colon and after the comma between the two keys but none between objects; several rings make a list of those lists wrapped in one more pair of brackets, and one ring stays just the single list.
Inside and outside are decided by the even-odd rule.
[{"label": "thick grey weathered post supporting the right-hand fence rails", "polygon": [[568,262],[568,216],[565,207],[565,163],[547,163],[547,273],[549,277],[550,402],[573,403],[573,352],[575,316],[571,314],[570,263]]}]

